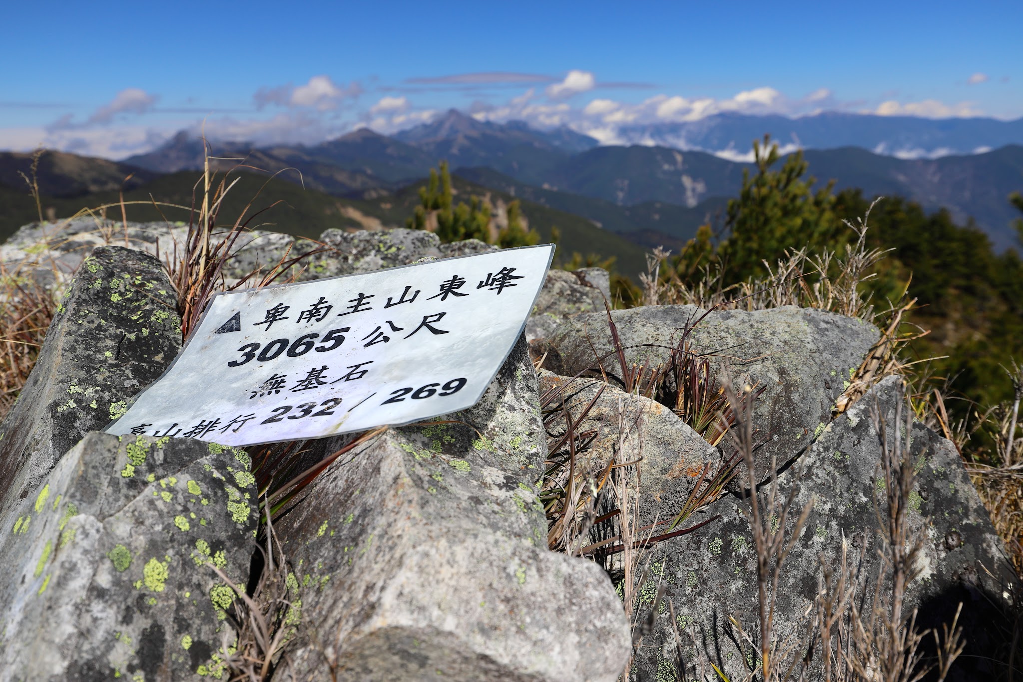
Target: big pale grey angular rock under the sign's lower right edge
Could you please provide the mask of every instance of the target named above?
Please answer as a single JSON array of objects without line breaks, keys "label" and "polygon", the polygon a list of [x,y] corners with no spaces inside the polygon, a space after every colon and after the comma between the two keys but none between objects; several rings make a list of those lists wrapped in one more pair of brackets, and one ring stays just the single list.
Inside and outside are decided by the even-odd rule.
[{"label": "big pale grey angular rock under the sign's lower right edge", "polygon": [[291,672],[615,680],[628,652],[621,602],[595,564],[546,548],[546,447],[525,343],[476,407],[446,420],[335,462],[277,522],[307,586]]}]

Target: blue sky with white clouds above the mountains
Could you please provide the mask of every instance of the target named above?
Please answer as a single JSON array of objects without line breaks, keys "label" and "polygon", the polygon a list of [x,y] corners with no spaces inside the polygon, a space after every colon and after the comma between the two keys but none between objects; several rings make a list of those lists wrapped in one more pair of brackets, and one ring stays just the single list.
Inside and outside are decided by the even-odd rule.
[{"label": "blue sky with white clouds above the mountains", "polygon": [[204,119],[214,136],[316,142],[451,106],[609,142],[721,110],[1023,116],[1018,1],[33,2],[4,17],[0,148],[120,157]]}]

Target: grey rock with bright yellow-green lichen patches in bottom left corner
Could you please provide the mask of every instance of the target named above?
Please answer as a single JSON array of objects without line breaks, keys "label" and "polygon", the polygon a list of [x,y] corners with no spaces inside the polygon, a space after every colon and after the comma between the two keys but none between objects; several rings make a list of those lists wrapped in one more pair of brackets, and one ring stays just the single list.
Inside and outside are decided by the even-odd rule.
[{"label": "grey rock with bright yellow-green lichen patches in bottom left corner", "polygon": [[258,522],[249,457],[92,433],[0,533],[0,680],[221,679]]}]

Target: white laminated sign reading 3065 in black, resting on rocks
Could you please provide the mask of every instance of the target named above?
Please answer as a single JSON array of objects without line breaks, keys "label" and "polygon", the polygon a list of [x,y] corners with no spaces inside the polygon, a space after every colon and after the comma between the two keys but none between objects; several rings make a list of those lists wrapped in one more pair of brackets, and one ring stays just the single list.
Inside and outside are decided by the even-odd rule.
[{"label": "white laminated sign reading 3065 in black, resting on rocks", "polygon": [[174,364],[105,430],[240,446],[471,407],[552,255],[525,246],[219,293]]}]

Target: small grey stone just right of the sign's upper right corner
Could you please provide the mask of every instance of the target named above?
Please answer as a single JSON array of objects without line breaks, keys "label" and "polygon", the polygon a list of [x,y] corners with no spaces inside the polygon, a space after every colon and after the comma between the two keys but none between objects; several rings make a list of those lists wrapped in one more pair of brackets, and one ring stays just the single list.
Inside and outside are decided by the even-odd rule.
[{"label": "small grey stone just right of the sign's upper right corner", "polygon": [[[526,322],[526,339],[549,336],[562,322],[578,313],[594,313],[605,310],[604,302],[610,303],[610,291],[605,292],[597,285],[588,283],[602,280],[595,271],[607,274],[601,268],[586,268],[569,272],[548,270],[543,288],[533,305],[529,321]],[[605,278],[607,279],[607,278]]]}]

